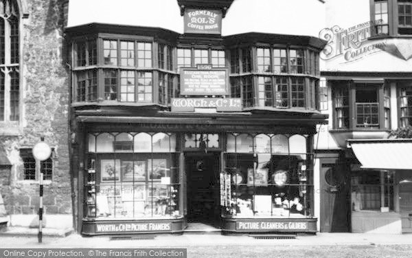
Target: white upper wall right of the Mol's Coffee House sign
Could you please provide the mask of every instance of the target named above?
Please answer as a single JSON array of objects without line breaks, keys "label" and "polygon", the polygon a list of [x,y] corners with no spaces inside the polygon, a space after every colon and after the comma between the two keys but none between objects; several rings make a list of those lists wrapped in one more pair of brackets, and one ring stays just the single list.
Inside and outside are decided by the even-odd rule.
[{"label": "white upper wall right of the Mol's Coffee House sign", "polygon": [[245,32],[318,36],[325,24],[325,4],[317,0],[235,0],[222,35]]}]

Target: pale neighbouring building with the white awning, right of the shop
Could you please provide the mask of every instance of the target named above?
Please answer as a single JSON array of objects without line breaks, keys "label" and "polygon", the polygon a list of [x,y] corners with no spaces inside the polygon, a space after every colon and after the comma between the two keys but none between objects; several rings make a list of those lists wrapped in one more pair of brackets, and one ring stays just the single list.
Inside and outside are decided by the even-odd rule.
[{"label": "pale neighbouring building with the white awning, right of the shop", "polygon": [[315,144],[319,230],[411,232],[411,141],[384,139],[411,126],[412,3],[325,6],[319,100],[329,123]]}]

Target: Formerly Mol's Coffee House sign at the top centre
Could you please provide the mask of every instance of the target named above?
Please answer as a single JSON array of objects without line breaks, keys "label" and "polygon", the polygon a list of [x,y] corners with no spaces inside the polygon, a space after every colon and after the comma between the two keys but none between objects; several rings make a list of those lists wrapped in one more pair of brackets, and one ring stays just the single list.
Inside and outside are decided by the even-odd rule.
[{"label": "Formerly Mol's Coffee House sign at the top centre", "polygon": [[220,10],[185,10],[185,33],[221,34],[222,11]]}]

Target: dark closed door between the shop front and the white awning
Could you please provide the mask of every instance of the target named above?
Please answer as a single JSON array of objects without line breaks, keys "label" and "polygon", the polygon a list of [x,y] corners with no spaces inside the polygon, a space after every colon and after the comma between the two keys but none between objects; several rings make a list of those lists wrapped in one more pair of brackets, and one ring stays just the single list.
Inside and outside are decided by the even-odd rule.
[{"label": "dark closed door between the shop front and the white awning", "polygon": [[321,164],[321,232],[350,231],[350,176],[345,164]]}]

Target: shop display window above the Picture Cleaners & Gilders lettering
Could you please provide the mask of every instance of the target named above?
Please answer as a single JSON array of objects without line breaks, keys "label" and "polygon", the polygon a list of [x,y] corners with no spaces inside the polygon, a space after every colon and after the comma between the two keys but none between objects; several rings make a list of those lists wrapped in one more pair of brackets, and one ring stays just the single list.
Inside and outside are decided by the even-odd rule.
[{"label": "shop display window above the Picture Cleaners & Gilders lettering", "polygon": [[306,136],[228,133],[220,174],[222,215],[304,218],[312,215],[311,155]]}]

